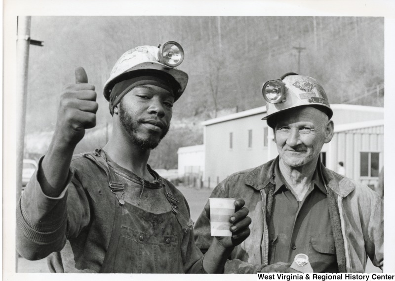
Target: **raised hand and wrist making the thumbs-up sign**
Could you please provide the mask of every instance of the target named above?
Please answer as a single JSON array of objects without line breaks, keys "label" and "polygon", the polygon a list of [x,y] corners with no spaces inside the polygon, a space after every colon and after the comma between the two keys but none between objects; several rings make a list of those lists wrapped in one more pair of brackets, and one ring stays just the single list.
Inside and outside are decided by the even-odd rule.
[{"label": "raised hand and wrist making the thumbs-up sign", "polygon": [[82,67],[75,70],[76,84],[66,85],[60,97],[54,134],[55,145],[75,147],[85,134],[85,129],[96,125],[95,86],[88,84]]}]

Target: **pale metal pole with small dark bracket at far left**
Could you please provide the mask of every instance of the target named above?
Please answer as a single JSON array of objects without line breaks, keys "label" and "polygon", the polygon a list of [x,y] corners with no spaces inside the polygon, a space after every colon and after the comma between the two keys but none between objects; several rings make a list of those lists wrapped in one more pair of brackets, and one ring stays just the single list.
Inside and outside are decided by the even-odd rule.
[{"label": "pale metal pole with small dark bracket at far left", "polygon": [[[30,16],[18,16],[17,29],[17,66],[16,66],[16,202],[22,193],[23,150],[25,144],[26,95],[28,89],[29,46],[42,46],[41,41],[30,39]],[[18,272],[18,254],[16,255],[16,272]]]}]

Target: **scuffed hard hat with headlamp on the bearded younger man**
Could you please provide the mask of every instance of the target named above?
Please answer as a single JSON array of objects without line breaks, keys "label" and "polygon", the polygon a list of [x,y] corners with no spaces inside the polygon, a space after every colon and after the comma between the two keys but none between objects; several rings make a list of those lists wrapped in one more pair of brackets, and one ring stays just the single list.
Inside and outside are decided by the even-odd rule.
[{"label": "scuffed hard hat with headlamp on the bearded younger man", "polygon": [[159,70],[171,75],[179,85],[174,92],[174,100],[177,100],[185,91],[188,83],[188,74],[175,68],[184,58],[182,47],[174,41],[168,41],[159,47],[138,46],[124,53],[115,63],[110,73],[110,78],[104,84],[103,94],[109,100],[115,84],[127,79],[130,72],[137,70]]}]

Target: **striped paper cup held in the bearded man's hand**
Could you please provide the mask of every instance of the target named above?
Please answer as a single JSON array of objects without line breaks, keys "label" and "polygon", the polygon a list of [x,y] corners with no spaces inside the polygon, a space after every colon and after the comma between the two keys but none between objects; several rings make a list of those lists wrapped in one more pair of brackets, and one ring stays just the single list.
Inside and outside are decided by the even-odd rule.
[{"label": "striped paper cup held in the bearded man's hand", "polygon": [[209,198],[211,236],[232,236],[230,217],[235,213],[234,198]]}]

